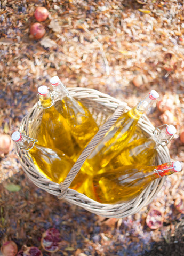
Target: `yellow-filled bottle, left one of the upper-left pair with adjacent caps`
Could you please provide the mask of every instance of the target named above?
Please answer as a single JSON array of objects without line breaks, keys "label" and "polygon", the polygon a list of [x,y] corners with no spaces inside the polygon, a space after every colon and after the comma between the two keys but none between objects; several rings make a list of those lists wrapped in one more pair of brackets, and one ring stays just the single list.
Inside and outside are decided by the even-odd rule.
[{"label": "yellow-filled bottle, left one of the upper-left pair with adjacent caps", "polygon": [[[70,127],[65,118],[53,106],[53,97],[47,86],[38,87],[38,108],[43,109],[43,116],[37,136],[39,145],[57,148],[68,156],[74,154]],[[34,127],[33,127],[34,128]]]}]

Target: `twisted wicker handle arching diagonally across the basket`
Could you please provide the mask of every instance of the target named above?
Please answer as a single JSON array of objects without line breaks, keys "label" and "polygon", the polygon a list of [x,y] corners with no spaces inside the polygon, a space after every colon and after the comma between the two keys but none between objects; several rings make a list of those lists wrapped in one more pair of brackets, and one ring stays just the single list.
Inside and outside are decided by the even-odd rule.
[{"label": "twisted wicker handle arching diagonally across the basket", "polygon": [[63,182],[60,183],[60,190],[61,193],[58,195],[58,199],[62,199],[67,194],[67,190],[69,186],[71,185],[71,182],[74,180],[75,176],[81,169],[83,163],[87,159],[87,157],[90,155],[92,150],[97,146],[98,142],[103,138],[103,136],[108,132],[110,127],[116,122],[116,120],[123,114],[124,110],[126,108],[126,105],[120,104],[117,109],[114,111],[113,115],[109,117],[109,119],[106,121],[105,124],[102,125],[100,130],[97,132],[97,134],[94,135],[92,140],[89,142],[89,144],[86,146],[86,148],[82,151],[81,155],[78,157],[77,161],[69,171],[67,177]]}]

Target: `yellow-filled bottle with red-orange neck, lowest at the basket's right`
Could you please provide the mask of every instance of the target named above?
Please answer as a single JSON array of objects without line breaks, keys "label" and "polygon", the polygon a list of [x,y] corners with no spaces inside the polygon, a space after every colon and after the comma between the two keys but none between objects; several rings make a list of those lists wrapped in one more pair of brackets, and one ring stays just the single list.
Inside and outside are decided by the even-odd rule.
[{"label": "yellow-filled bottle with red-orange neck, lowest at the basket's right", "polygon": [[129,201],[137,197],[151,181],[181,171],[179,161],[157,166],[122,166],[113,172],[87,178],[84,194],[105,204]]}]

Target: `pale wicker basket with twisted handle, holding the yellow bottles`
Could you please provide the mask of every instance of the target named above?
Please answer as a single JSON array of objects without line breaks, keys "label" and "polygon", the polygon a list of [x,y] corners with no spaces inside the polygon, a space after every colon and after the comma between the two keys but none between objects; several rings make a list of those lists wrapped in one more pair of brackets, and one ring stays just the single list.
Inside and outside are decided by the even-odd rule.
[{"label": "pale wicker basket with twisted handle, holding the yellow bottles", "polygon": [[[69,189],[70,183],[75,178],[76,174],[80,170],[87,156],[91,153],[93,148],[97,145],[98,141],[109,130],[111,125],[116,119],[121,116],[123,111],[130,109],[126,103],[116,100],[107,94],[100,93],[93,89],[84,88],[69,88],[70,95],[80,100],[91,111],[95,121],[100,127],[99,132],[90,141],[89,145],[83,150],[81,156],[79,156],[77,162],[70,170],[65,181],[61,184],[54,183],[49,179],[43,177],[35,169],[32,159],[29,158],[27,152],[16,146],[19,161],[28,178],[39,188],[47,191],[48,193],[57,196],[59,199],[65,198],[68,202],[81,206],[87,211],[101,215],[107,218],[123,218],[128,215],[132,215],[140,211],[142,207],[148,205],[153,198],[157,195],[158,191],[162,188],[165,177],[159,178],[153,182],[137,197],[129,202],[121,204],[101,204],[87,196],[78,193],[73,189]],[[58,99],[55,99],[57,102]],[[19,131],[25,132],[29,135],[29,126],[33,123],[33,120],[41,118],[42,110],[38,110],[36,105],[30,110],[30,112],[22,119]],[[153,135],[155,127],[150,123],[146,115],[141,117],[138,125],[142,131],[147,134],[147,137]],[[169,150],[167,147],[159,146],[157,149],[156,164],[162,164],[170,162]],[[61,166],[62,171],[62,166]]]}]

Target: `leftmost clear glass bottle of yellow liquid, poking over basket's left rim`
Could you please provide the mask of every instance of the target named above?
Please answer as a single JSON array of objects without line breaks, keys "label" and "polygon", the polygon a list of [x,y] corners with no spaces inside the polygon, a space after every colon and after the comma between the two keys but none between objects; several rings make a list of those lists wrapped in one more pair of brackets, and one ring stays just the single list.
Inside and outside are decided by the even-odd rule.
[{"label": "leftmost clear glass bottle of yellow liquid, poking over basket's left rim", "polygon": [[[37,140],[16,131],[12,134],[12,140],[18,147],[28,151],[33,159],[36,170],[55,183],[61,183],[67,177],[74,162],[61,150],[41,146]],[[86,175],[78,173],[71,183],[70,188],[81,191],[80,187],[85,181]]]}]

